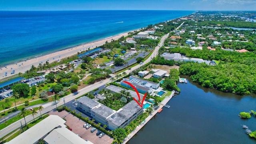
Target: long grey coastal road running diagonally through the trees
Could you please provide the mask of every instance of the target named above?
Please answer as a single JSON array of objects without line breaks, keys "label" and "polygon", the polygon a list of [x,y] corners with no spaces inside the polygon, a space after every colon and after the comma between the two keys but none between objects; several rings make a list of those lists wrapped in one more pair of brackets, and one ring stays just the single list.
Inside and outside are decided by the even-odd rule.
[{"label": "long grey coastal road running diagonally through the trees", "polygon": [[[183,24],[183,23],[182,23]],[[163,46],[164,44],[164,40],[169,36],[169,33],[164,35],[162,38],[161,38],[161,41],[160,43],[158,44],[158,46],[156,46],[154,52],[152,53],[152,55],[144,61],[144,64],[150,62],[150,60],[152,60],[152,58],[154,58],[155,56],[157,56],[158,54],[158,50],[161,46]],[[126,70],[125,72],[128,74],[129,72],[131,72],[132,70],[135,70],[136,68],[139,68],[140,66],[142,66],[141,64],[137,65],[137,66],[134,66],[131,68],[131,70]],[[114,75],[113,75],[114,76]],[[65,96],[64,99],[65,99],[65,103],[66,102],[70,102],[72,100],[74,100],[75,98],[79,97],[79,96],[82,96],[83,94],[87,93],[87,92],[90,92],[91,90],[94,90],[100,86],[103,86],[105,84],[107,84],[108,82],[110,82],[110,78],[106,79],[106,80],[103,80],[101,82],[97,82],[97,83],[94,83],[93,85],[90,85],[86,88],[83,88],[81,90],[78,90],[78,94],[74,95],[74,94],[69,94],[68,96]],[[63,98],[60,99],[60,102],[57,104],[57,106],[61,106],[63,105],[64,102],[63,102]],[[42,110],[42,114],[46,114],[48,112],[50,112],[51,110],[54,110],[56,108],[55,105],[51,105],[51,104],[45,104],[43,105],[44,109]],[[38,111],[38,114],[35,116],[35,117],[39,117],[40,116],[40,112]],[[28,115],[25,117],[26,118],[26,122],[30,122],[33,120],[33,116],[31,115]],[[18,129],[21,127],[21,124],[22,123],[23,125],[25,124],[24,122],[24,118],[22,118],[21,120],[18,120],[17,122],[14,122],[13,124],[9,125],[8,127],[0,130],[0,138],[6,136],[7,134],[9,134],[10,132]]]}]

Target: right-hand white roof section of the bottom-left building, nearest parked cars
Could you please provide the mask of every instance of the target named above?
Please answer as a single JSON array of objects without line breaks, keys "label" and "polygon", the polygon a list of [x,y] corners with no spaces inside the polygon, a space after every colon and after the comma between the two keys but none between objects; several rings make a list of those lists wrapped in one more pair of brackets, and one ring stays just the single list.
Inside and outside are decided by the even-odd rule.
[{"label": "right-hand white roof section of the bottom-left building, nearest parked cars", "polygon": [[48,144],[93,144],[63,127],[54,129],[44,140]]}]

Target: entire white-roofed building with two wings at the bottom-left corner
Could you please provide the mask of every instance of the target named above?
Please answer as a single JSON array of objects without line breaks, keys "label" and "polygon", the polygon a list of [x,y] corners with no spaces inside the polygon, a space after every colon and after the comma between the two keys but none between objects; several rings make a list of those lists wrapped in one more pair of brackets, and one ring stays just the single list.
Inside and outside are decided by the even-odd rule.
[{"label": "entire white-roofed building with two wings at the bottom-left corner", "polygon": [[68,130],[66,121],[57,115],[50,115],[5,144],[93,144]]}]

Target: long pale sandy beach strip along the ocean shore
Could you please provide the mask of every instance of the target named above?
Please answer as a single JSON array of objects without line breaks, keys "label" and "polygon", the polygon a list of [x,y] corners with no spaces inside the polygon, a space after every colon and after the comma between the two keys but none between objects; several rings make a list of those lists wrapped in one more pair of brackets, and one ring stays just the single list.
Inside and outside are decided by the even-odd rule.
[{"label": "long pale sandy beach strip along the ocean shore", "polygon": [[[132,30],[130,32],[134,32],[135,30]],[[10,74],[13,70],[15,70],[15,74],[18,74],[19,72],[21,73],[25,73],[26,70],[30,70],[31,66],[38,66],[39,63],[43,62],[43,64],[49,60],[48,62],[52,63],[54,61],[58,61],[61,60],[62,58],[66,58],[68,56],[73,56],[75,54],[77,54],[77,52],[80,52],[81,50],[88,50],[88,48],[90,48],[90,50],[96,48],[96,46],[102,46],[103,44],[105,44],[106,41],[111,42],[111,40],[118,40],[118,38],[120,38],[121,36],[128,36],[129,32],[125,32],[122,34],[118,34],[115,36],[111,36],[108,38],[104,38],[102,40],[98,40],[98,41],[94,41],[94,42],[90,42],[90,43],[86,43],[86,44],[82,44],[80,46],[75,46],[72,48],[68,48],[65,50],[60,50],[57,52],[53,52],[50,54],[46,54],[43,56],[38,56],[38,57],[34,57],[34,58],[30,58],[28,60],[25,61],[20,61],[17,62],[16,64],[10,64],[8,66],[5,67],[1,67],[0,70],[0,80],[3,78],[7,78],[8,76],[12,76],[13,74]],[[11,69],[12,68],[12,69]],[[7,76],[4,76],[4,74],[7,72]]]}]

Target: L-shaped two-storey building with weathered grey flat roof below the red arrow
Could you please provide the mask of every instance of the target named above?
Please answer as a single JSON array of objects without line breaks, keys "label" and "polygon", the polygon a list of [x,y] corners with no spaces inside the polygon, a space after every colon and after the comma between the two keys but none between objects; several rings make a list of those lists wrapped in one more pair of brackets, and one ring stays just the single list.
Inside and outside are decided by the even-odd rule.
[{"label": "L-shaped two-storey building with weathered grey flat roof below the red arrow", "polygon": [[94,120],[100,122],[102,125],[106,124],[110,130],[125,128],[143,112],[143,108],[141,108],[134,100],[117,111],[86,96],[78,98],[77,104],[79,110],[92,116]]}]

